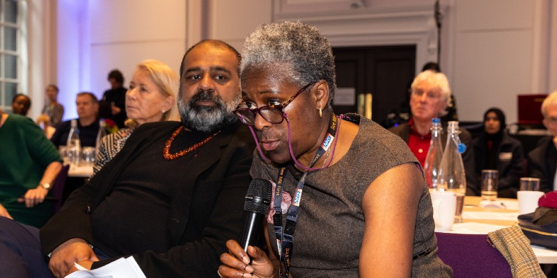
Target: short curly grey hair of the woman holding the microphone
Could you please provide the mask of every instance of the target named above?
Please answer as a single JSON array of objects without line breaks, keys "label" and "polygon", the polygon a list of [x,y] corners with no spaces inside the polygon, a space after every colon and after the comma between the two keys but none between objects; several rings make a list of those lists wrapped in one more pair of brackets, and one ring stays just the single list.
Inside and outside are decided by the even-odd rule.
[{"label": "short curly grey hair of the woman holding the microphone", "polygon": [[302,22],[262,24],[248,35],[240,72],[277,63],[288,65],[300,86],[327,81],[331,104],[336,90],[335,59],[331,44],[317,28]]}]

